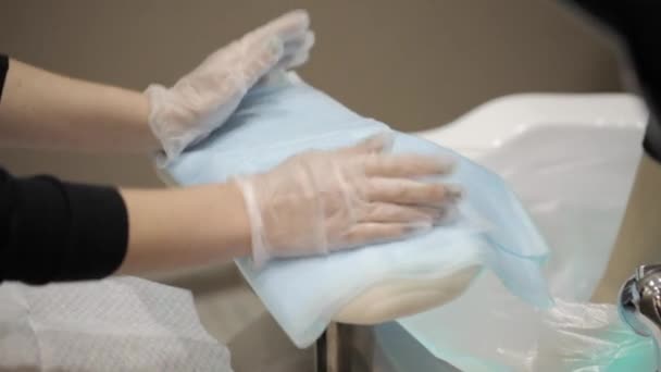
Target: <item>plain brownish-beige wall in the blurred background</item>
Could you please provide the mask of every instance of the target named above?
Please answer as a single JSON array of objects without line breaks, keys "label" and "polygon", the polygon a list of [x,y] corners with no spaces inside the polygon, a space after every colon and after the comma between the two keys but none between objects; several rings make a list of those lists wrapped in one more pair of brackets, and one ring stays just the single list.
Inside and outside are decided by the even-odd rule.
[{"label": "plain brownish-beige wall in the blurred background", "polygon": [[[302,75],[402,129],[448,122],[520,91],[619,89],[609,48],[549,0],[0,1],[0,50],[26,62],[142,89],[305,8],[317,45]],[[146,158],[0,151],[12,171],[159,185]]]}]

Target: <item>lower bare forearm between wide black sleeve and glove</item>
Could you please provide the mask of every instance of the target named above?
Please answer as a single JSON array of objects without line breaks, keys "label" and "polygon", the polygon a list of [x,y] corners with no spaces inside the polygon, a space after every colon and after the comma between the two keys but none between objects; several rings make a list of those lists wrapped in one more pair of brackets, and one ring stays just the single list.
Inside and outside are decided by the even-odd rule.
[{"label": "lower bare forearm between wide black sleeve and glove", "polygon": [[250,255],[250,226],[232,184],[170,190],[122,190],[128,250],[122,274],[227,261]]}]

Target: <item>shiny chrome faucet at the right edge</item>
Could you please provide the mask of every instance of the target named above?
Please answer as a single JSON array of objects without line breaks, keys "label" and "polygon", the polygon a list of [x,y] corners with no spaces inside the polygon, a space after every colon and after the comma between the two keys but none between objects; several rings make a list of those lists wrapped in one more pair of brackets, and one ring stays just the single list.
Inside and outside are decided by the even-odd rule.
[{"label": "shiny chrome faucet at the right edge", "polygon": [[654,339],[657,365],[661,367],[661,264],[636,269],[620,289],[618,310],[637,334]]}]

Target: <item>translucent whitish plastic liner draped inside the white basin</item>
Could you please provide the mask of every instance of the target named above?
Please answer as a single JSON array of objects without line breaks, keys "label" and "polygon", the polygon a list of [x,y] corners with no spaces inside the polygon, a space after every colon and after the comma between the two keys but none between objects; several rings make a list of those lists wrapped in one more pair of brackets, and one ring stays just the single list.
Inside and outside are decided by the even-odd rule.
[{"label": "translucent whitish plastic liner draped inside the white basin", "polygon": [[[465,371],[611,371],[615,369],[608,365],[622,365],[625,359],[646,362],[649,356],[629,347],[638,338],[620,325],[614,310],[587,303],[626,208],[645,123],[644,114],[640,122],[598,115],[594,122],[540,125],[477,157],[512,185],[549,241],[545,276],[556,301],[566,306],[548,314],[537,311],[486,272],[456,301],[399,321],[437,359]],[[588,314],[602,315],[590,323]],[[595,327],[600,332],[591,332]],[[569,351],[551,351],[564,346],[549,334],[566,336],[566,347],[572,343],[581,363],[533,368],[540,363],[541,344],[547,355]]]}]

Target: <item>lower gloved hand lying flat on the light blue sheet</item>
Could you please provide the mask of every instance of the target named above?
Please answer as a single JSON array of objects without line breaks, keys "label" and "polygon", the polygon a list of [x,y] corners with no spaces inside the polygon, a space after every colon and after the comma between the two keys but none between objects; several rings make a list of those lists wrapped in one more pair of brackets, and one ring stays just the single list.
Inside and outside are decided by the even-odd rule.
[{"label": "lower gloved hand lying flat on the light blue sheet", "polygon": [[414,178],[448,173],[451,162],[388,154],[389,142],[379,135],[354,147],[308,151],[238,178],[254,263],[397,239],[445,218],[461,188]]}]

